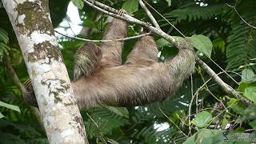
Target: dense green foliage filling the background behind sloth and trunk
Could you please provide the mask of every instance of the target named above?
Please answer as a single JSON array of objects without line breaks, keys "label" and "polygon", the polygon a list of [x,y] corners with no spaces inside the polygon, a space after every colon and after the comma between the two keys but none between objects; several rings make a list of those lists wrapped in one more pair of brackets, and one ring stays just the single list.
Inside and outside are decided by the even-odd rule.
[{"label": "dense green foliage filling the background behind sloth and trunk", "polygon": [[[62,18],[66,17],[66,7],[69,2],[69,0],[61,3],[57,0],[50,1],[54,26],[58,26]],[[80,8],[82,26],[87,30],[86,34],[81,34],[79,37],[101,39],[108,16],[89,6],[83,6],[80,0],[72,0],[72,2]],[[135,18],[150,22],[136,0],[100,0],[99,2],[116,9],[125,8]],[[164,102],[126,108],[102,106],[92,110],[82,110],[90,143],[242,143],[241,138],[236,139],[239,140],[237,142],[232,141],[234,140],[232,134],[239,135],[245,132],[255,134],[256,30],[243,22],[232,8],[226,6],[226,3],[219,0],[147,2],[186,34],[197,50],[208,57],[211,56],[214,62],[232,73],[230,75],[239,82],[238,85],[225,74],[219,76],[252,103],[247,104],[240,99],[227,96],[214,81],[208,82],[209,76],[196,66],[195,74],[183,82],[176,94]],[[255,26],[254,0],[229,2],[236,7],[246,22]],[[171,35],[179,35],[154,10],[150,9],[150,11],[157,18],[162,30]],[[0,118],[5,116],[0,119],[0,143],[48,143],[42,126],[34,116],[33,110],[23,102],[20,90],[12,82],[5,62],[2,61],[3,58],[10,60],[21,81],[26,81],[28,75],[22,61],[22,53],[18,49],[18,42],[6,12],[1,7],[0,17],[0,105],[2,102],[11,105],[5,104],[5,107],[0,107]],[[128,35],[139,34],[140,30],[141,26],[130,24]],[[159,59],[163,62],[178,53],[178,50],[165,39],[158,36],[155,36],[155,39],[161,51]],[[59,38],[58,41],[62,46],[62,55],[72,79],[73,55],[84,42],[70,38]],[[123,61],[134,42],[136,40],[126,42],[122,54]],[[208,61],[205,55],[201,58],[214,71],[219,72],[217,66]],[[9,110],[6,106],[14,110]],[[15,110],[20,110],[21,113]],[[230,141],[222,142],[226,138]]]}]

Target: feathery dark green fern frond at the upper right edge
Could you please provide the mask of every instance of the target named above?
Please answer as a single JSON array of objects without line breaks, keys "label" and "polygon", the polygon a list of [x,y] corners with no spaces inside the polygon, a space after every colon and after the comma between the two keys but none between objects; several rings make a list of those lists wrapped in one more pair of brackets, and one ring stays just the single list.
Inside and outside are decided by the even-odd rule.
[{"label": "feathery dark green fern frond at the upper right edge", "polygon": [[[244,18],[248,22],[256,22],[255,15],[246,15]],[[255,64],[250,59],[256,58],[256,30],[244,22],[241,24],[241,22],[234,24],[231,34],[227,38],[229,45],[226,47],[226,69],[234,70],[249,66],[255,70]]]}]

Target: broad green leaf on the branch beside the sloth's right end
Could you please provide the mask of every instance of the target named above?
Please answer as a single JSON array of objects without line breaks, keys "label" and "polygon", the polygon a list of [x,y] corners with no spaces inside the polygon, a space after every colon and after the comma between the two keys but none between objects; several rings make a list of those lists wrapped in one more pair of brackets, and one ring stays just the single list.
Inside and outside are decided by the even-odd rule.
[{"label": "broad green leaf on the branch beside the sloth's right end", "polygon": [[193,35],[192,37],[188,37],[194,48],[201,51],[203,54],[206,54],[208,57],[210,57],[213,44],[210,42],[210,39],[206,36],[199,34],[199,35]]}]

